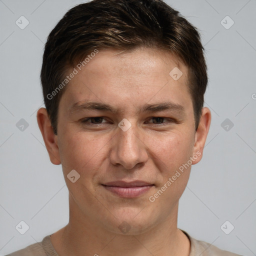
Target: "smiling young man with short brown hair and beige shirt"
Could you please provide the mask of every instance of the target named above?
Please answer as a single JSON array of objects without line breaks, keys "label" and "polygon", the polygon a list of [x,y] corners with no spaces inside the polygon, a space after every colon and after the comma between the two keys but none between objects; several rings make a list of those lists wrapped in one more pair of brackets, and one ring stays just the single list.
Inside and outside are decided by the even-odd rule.
[{"label": "smiling young man with short brown hair and beige shirt", "polygon": [[197,30],[161,0],[93,0],[50,32],[37,121],[69,222],[9,255],[237,255],[177,228],[210,126]]}]

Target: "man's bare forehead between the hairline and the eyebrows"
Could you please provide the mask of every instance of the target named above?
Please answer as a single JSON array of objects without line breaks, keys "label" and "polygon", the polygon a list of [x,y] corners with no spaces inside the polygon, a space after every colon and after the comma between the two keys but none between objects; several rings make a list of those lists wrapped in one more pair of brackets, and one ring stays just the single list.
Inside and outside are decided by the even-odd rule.
[{"label": "man's bare forehead between the hairline and the eyebrows", "polygon": [[136,110],[142,103],[189,103],[187,67],[168,52],[145,48],[99,50],[80,69],[74,68],[77,74],[60,100],[68,109],[86,100]]}]

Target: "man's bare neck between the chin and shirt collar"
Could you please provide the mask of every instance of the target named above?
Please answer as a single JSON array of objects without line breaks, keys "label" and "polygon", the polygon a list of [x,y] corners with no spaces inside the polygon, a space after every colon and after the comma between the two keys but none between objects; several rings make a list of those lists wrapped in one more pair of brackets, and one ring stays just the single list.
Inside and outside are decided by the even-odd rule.
[{"label": "man's bare neck between the chin and shirt collar", "polygon": [[68,224],[50,236],[59,256],[108,256],[117,253],[122,256],[189,256],[190,241],[177,228],[178,204],[168,219],[138,234],[118,234],[93,223],[80,214],[70,197],[69,209],[72,210],[69,210]]}]

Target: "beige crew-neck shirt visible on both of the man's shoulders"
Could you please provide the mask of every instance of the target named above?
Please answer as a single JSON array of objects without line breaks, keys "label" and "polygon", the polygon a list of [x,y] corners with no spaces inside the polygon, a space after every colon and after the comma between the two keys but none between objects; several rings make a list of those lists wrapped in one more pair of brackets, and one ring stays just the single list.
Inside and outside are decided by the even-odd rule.
[{"label": "beige crew-neck shirt visible on both of the man's shoulders", "polygon": [[[190,240],[189,256],[241,256],[226,250],[221,250],[210,243],[196,240],[185,231],[183,232]],[[58,254],[50,242],[50,235],[47,235],[41,242],[33,243],[21,250],[14,251],[5,256],[58,256]]]}]

